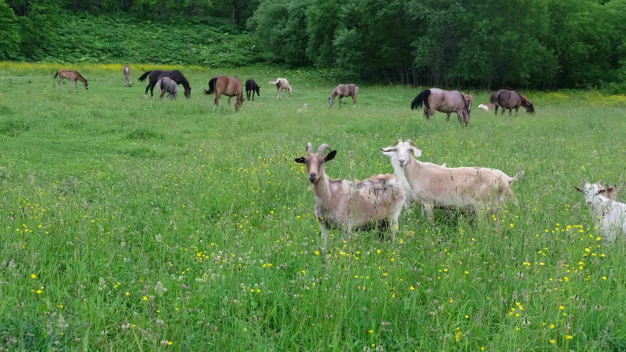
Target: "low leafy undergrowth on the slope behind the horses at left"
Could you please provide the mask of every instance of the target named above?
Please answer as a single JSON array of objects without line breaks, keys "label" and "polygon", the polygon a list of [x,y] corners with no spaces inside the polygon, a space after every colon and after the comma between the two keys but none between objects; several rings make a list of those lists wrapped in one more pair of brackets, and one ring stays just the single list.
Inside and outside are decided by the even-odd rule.
[{"label": "low leafy undergrowth on the slope behind the horses at left", "polygon": [[[26,21],[31,22],[30,18]],[[123,15],[63,16],[46,36],[38,45],[22,46],[23,57],[41,61],[186,63],[213,67],[250,65],[258,55],[252,39],[245,33],[230,34],[196,23],[141,21]],[[33,47],[36,51],[31,51]]]}]

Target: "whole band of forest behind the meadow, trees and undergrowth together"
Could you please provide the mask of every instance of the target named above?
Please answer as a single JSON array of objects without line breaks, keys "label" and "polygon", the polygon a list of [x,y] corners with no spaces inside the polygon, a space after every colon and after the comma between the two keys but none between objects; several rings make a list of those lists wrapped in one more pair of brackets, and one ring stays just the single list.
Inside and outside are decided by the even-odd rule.
[{"label": "whole band of forest behind the meadow, trees and undergrowth together", "polygon": [[0,59],[626,91],[626,0],[0,0]]}]

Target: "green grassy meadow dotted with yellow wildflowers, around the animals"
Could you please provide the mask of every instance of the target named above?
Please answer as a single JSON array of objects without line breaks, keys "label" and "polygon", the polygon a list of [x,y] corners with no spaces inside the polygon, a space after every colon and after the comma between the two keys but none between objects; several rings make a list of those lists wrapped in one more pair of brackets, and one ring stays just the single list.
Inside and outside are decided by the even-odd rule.
[{"label": "green grassy meadow dotted with yellow wildflowers, around the animals", "polygon": [[[470,91],[463,128],[409,110],[414,88],[361,85],[356,110],[328,110],[337,82],[310,73],[182,68],[192,98],[173,102],[143,98],[150,65],[132,88],[121,65],[64,66],[89,80],[78,93],[54,90],[61,67],[0,63],[0,351],[626,349],[626,250],[573,189],[626,176],[624,96],[528,92],[536,115],[510,118]],[[260,98],[213,111],[217,73]],[[404,210],[397,241],[334,231],[321,252],[294,158],[329,143],[327,174],[364,179],[393,173],[379,147],[398,138],[423,161],[523,169],[520,204],[496,231]]]}]

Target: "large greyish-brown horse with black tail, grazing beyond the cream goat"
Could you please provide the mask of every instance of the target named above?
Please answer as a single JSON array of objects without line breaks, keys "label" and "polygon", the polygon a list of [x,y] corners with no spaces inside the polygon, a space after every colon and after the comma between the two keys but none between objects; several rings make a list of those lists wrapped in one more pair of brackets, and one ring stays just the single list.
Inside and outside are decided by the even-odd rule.
[{"label": "large greyish-brown horse with black tail, grazing beyond the cream goat", "polygon": [[435,111],[448,113],[448,117],[449,113],[456,112],[459,122],[465,123],[466,126],[469,123],[468,101],[458,90],[446,91],[439,88],[423,90],[411,103],[411,110],[421,108],[422,105],[426,120],[429,120]]}]

